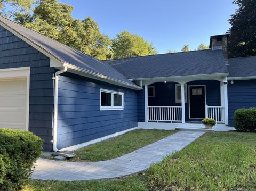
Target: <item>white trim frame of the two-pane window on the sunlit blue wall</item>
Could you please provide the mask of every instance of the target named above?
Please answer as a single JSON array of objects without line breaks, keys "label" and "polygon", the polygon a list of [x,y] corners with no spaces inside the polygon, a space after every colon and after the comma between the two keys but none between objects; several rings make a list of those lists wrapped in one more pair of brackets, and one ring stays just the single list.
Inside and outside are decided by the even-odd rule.
[{"label": "white trim frame of the two-pane window on the sunlit blue wall", "polygon": [[[101,92],[111,94],[111,106],[101,106]],[[114,94],[122,95],[122,106],[114,106]],[[100,110],[123,110],[124,109],[124,93],[116,92],[108,89],[100,89]]]}]

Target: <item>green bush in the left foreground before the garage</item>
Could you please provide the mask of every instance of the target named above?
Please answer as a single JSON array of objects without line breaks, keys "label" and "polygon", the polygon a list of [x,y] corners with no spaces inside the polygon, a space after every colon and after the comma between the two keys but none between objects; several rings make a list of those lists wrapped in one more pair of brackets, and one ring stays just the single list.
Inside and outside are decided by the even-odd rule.
[{"label": "green bush in the left foreground before the garage", "polygon": [[0,129],[0,190],[20,190],[26,184],[42,145],[31,132]]}]

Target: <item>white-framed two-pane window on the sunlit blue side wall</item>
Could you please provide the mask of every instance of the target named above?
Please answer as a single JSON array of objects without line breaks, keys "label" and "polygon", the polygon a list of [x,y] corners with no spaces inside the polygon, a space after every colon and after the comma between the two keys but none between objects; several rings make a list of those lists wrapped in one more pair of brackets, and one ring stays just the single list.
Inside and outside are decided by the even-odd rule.
[{"label": "white-framed two-pane window on the sunlit blue side wall", "polygon": [[100,110],[123,110],[124,93],[100,89]]}]

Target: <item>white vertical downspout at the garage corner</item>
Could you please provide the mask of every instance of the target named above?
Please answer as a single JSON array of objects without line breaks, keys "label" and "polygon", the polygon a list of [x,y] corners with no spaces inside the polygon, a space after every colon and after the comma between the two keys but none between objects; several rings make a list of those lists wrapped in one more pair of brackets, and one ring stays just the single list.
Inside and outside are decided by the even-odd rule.
[{"label": "white vertical downspout at the garage corner", "polygon": [[67,67],[63,67],[62,70],[59,70],[55,73],[53,77],[54,81],[54,106],[53,106],[53,145],[52,149],[54,152],[58,152],[57,148],[57,124],[58,124],[58,89],[59,89],[59,74],[67,71]]}]

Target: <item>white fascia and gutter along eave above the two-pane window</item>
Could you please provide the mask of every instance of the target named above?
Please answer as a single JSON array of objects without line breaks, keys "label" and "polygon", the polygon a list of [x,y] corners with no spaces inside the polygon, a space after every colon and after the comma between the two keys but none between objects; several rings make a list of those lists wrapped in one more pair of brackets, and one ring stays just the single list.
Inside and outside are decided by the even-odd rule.
[{"label": "white fascia and gutter along eave above the two-pane window", "polygon": [[[117,86],[122,86],[122,87],[130,88],[130,89],[136,89],[136,90],[142,89],[141,87],[139,87],[135,84],[132,85],[132,84],[123,82],[121,80],[117,80],[117,79],[114,79],[114,78],[107,77],[103,74],[88,71],[88,70],[76,67],[75,65],[66,63],[66,62],[63,64],[63,67],[67,67],[68,72],[75,73],[75,74],[78,74],[80,76],[85,76],[87,78],[92,78],[92,79],[95,79],[95,80],[104,81],[104,82],[107,82],[109,84],[114,84],[114,85],[117,85]],[[60,69],[60,68],[57,67],[57,69]]]}]

